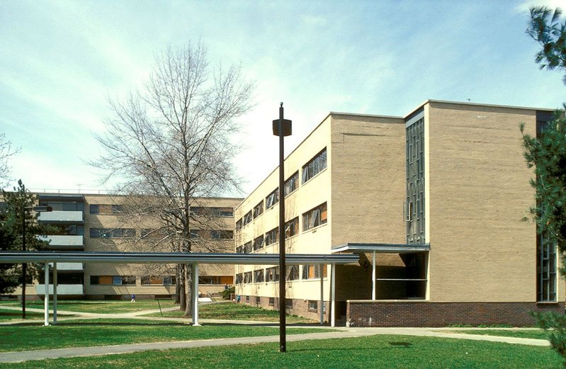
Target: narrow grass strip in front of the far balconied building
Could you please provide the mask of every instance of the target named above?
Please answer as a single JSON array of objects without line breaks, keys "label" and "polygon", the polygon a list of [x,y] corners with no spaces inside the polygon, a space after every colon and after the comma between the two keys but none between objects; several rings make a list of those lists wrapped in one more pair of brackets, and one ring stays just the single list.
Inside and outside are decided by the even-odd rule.
[{"label": "narrow grass strip in front of the far balconied building", "polygon": [[[26,308],[42,309],[44,302],[41,300],[26,301]],[[18,301],[2,301],[2,305],[6,306],[21,306]],[[53,307],[53,302],[50,301],[50,308]],[[159,310],[159,305],[162,309],[167,307],[174,307],[175,304],[171,299],[159,300],[137,300],[136,302],[128,301],[89,301],[89,300],[57,300],[57,310],[72,311],[72,312],[96,312],[98,314],[115,314],[121,312],[139,312],[142,310]],[[158,313],[159,314],[159,313]]]}]

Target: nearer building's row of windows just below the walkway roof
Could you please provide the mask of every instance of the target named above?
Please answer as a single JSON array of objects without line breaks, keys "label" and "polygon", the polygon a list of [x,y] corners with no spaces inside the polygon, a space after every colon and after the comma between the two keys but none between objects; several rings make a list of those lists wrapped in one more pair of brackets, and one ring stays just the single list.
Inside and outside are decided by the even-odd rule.
[{"label": "nearer building's row of windows just below the walkway roof", "polygon": [[[305,264],[300,266],[300,268],[302,269],[302,274],[299,273],[299,266],[288,266],[286,268],[287,273],[285,273],[285,280],[299,280],[299,276],[301,276],[301,280],[320,278],[320,267],[318,265]],[[327,278],[326,265],[322,265],[322,278]],[[255,271],[236,274],[237,284],[278,282],[278,280],[278,266],[272,266],[271,268],[265,269],[256,269]]]}]

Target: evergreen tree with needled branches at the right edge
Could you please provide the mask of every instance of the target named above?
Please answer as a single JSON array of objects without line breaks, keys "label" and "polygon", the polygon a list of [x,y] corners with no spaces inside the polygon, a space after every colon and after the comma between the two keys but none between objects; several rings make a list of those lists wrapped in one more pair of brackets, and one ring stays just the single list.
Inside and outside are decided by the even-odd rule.
[{"label": "evergreen tree with needled branches at the right edge", "polygon": [[[526,33],[542,46],[535,57],[540,68],[566,70],[566,21],[560,23],[562,10],[554,11],[545,6],[531,8],[531,18]],[[566,84],[566,74],[562,77]],[[545,235],[546,242],[557,245],[562,268],[566,275],[566,118],[563,110],[557,110],[553,120],[538,129],[532,137],[523,134],[524,156],[529,168],[535,169],[531,186],[536,189],[536,205],[531,214],[537,224],[537,232]],[[548,332],[553,349],[565,358],[566,319],[556,312],[533,313],[539,327]]]}]

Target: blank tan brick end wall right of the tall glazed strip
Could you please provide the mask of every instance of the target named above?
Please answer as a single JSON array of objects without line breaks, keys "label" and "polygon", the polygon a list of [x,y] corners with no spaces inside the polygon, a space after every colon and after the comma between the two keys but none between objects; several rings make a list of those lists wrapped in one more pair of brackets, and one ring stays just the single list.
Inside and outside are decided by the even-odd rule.
[{"label": "blank tan brick end wall right of the tall glazed strip", "polygon": [[534,302],[536,228],[522,221],[533,172],[519,123],[534,135],[536,111],[439,102],[427,110],[430,300]]}]

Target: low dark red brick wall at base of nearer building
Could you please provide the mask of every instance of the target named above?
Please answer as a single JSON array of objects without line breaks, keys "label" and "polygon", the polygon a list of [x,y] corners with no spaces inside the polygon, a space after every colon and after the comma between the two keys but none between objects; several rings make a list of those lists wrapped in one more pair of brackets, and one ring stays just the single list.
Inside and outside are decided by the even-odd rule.
[{"label": "low dark red brick wall at base of nearer building", "polygon": [[560,303],[536,302],[375,302],[349,300],[346,324],[350,327],[447,327],[453,324],[509,324],[514,327],[533,326],[528,313],[561,312]]}]

